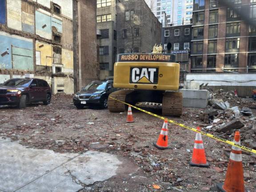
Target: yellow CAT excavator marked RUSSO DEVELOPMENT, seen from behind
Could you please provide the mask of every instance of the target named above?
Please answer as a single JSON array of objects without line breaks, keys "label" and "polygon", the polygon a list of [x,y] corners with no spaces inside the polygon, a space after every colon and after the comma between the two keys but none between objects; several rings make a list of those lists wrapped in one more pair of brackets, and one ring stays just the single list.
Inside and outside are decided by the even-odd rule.
[{"label": "yellow CAT excavator marked RUSSO DEVELOPMENT, seen from behind", "polygon": [[[171,48],[168,48],[170,52]],[[164,116],[181,116],[182,93],[179,89],[180,64],[176,56],[163,53],[161,45],[155,45],[152,53],[127,53],[117,55],[114,64],[114,88],[110,96],[136,105],[160,104]],[[108,97],[110,112],[124,112],[125,104]]]}]

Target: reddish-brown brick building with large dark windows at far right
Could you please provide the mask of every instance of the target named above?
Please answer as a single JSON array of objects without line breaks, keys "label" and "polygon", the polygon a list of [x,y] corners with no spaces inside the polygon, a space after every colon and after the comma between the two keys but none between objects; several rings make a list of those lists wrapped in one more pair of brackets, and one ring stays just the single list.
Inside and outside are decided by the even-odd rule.
[{"label": "reddish-brown brick building with large dark windows at far right", "polygon": [[191,72],[256,72],[255,19],[255,0],[194,0]]}]

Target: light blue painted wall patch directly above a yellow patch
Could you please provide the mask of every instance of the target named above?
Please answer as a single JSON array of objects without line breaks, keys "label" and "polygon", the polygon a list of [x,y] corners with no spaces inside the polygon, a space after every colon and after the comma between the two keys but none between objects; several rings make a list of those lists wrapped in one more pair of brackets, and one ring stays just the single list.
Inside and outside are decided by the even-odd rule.
[{"label": "light blue painted wall patch directly above a yellow patch", "polygon": [[36,11],[36,35],[49,40],[52,38],[51,16]]}]

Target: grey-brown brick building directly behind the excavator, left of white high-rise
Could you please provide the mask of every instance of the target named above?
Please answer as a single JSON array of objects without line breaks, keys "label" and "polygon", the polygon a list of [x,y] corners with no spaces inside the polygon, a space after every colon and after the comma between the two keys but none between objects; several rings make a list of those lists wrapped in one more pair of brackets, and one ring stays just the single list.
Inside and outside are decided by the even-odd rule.
[{"label": "grey-brown brick building directly behind the excavator, left of white high-rise", "polygon": [[161,24],[144,0],[97,4],[100,78],[113,76],[116,54],[151,52],[161,43]]}]

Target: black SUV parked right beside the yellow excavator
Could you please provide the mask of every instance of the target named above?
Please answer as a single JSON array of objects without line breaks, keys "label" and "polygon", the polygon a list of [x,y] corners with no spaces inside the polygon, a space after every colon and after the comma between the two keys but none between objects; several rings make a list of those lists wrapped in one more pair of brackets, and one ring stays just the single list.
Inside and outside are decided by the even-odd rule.
[{"label": "black SUV parked right beside the yellow excavator", "polygon": [[108,107],[108,95],[114,91],[113,81],[92,81],[80,92],[75,93],[73,103],[76,108],[81,109],[84,106],[98,105],[102,108]]}]

